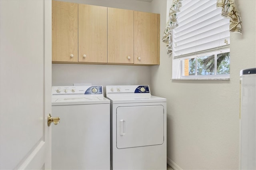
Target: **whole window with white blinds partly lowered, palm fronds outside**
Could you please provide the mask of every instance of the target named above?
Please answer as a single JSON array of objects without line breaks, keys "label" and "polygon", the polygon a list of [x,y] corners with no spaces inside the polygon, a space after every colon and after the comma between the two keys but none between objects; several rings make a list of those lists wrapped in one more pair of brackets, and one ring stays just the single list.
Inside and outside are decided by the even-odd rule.
[{"label": "whole window with white blinds partly lowered, palm fronds outside", "polygon": [[229,19],[216,0],[182,0],[173,30],[173,79],[229,79]]}]

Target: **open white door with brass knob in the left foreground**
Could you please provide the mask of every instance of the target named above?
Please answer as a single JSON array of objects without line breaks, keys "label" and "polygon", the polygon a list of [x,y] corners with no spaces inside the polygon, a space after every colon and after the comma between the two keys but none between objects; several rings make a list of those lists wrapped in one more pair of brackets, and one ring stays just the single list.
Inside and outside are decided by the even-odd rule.
[{"label": "open white door with brass knob in the left foreground", "polygon": [[50,169],[51,0],[0,0],[0,169]]}]

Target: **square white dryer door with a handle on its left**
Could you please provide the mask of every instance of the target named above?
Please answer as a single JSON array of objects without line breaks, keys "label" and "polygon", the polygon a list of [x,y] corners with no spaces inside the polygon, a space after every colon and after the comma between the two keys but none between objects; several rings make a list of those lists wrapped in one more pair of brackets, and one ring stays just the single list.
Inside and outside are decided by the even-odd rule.
[{"label": "square white dryer door with a handle on its left", "polygon": [[164,107],[130,106],[116,110],[116,146],[132,148],[164,142]]}]

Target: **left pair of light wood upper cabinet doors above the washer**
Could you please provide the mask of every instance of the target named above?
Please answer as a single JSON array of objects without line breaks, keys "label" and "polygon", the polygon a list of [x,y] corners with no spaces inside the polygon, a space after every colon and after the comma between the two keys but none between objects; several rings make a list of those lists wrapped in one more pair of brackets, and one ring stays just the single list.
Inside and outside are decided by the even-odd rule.
[{"label": "left pair of light wood upper cabinet doors above the washer", "polygon": [[52,61],[107,63],[107,7],[52,1]]}]

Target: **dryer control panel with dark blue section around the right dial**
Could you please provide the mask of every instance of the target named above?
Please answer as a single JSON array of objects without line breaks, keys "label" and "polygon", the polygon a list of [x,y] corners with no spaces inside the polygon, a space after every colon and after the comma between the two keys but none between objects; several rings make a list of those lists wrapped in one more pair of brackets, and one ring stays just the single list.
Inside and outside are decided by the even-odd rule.
[{"label": "dryer control panel with dark blue section around the right dial", "polygon": [[149,86],[148,85],[113,85],[113,86],[106,86],[106,93],[107,94],[123,94],[123,93],[149,93]]}]

